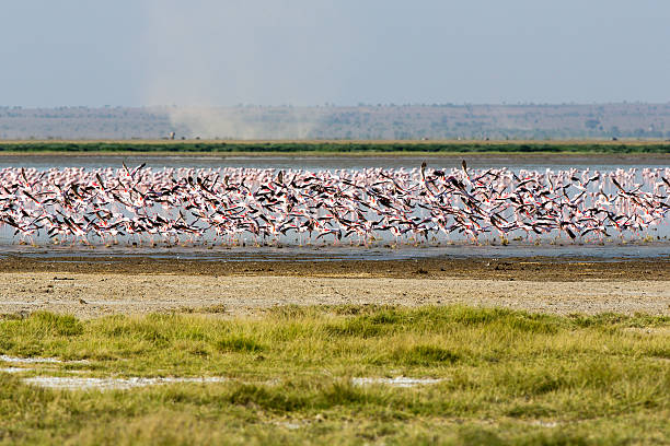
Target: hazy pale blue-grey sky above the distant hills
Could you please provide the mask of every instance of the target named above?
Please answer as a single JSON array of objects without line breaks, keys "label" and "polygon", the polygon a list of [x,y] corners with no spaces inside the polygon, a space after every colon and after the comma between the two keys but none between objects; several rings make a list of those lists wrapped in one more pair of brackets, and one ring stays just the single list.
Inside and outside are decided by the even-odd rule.
[{"label": "hazy pale blue-grey sky above the distant hills", "polygon": [[667,0],[2,0],[0,105],[670,101]]}]

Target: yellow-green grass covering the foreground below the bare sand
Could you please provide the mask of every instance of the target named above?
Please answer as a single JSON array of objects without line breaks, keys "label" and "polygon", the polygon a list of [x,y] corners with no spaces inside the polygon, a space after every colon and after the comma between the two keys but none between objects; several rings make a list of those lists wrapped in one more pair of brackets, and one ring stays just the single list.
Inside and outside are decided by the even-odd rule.
[{"label": "yellow-green grass covering the foreground below the bare sand", "polygon": [[[0,373],[0,444],[670,443],[669,317],[465,306],[84,321],[36,313],[0,319],[0,354],[88,360]],[[71,391],[23,383],[33,375],[230,379]],[[359,376],[442,380],[356,386]]]}]

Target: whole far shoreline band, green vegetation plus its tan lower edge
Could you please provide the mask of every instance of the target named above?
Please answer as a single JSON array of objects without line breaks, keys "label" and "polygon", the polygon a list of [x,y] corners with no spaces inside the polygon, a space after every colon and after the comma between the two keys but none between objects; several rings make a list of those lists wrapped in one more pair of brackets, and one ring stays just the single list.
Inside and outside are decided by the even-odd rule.
[{"label": "whole far shoreline band, green vegetation plus its tan lower edge", "polygon": [[670,160],[670,141],[0,140],[0,156],[516,157]]}]

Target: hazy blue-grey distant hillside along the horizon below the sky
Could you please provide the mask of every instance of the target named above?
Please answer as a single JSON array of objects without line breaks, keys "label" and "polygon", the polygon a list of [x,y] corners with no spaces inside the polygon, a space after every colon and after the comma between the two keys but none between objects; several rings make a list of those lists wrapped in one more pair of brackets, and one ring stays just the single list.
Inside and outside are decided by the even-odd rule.
[{"label": "hazy blue-grey distant hillside along the horizon below the sky", "polygon": [[0,107],[0,139],[670,139],[669,104]]}]

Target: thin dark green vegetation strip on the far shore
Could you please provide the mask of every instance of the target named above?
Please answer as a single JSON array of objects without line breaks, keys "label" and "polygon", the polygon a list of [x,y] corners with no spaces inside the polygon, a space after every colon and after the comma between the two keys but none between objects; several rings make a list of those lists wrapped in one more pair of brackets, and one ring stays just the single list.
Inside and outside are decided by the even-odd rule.
[{"label": "thin dark green vegetation strip on the far shore", "polygon": [[210,152],[210,153],[670,153],[670,143],[519,142],[7,142],[0,152]]}]

